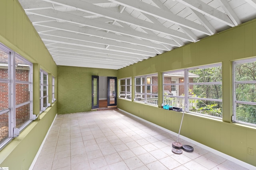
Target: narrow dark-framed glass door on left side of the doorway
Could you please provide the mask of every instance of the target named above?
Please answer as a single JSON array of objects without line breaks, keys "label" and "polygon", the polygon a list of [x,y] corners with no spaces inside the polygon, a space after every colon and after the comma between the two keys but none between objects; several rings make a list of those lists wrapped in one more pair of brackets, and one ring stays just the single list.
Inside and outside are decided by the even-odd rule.
[{"label": "narrow dark-framed glass door on left side of the doorway", "polygon": [[92,109],[99,108],[99,76],[92,76]]}]

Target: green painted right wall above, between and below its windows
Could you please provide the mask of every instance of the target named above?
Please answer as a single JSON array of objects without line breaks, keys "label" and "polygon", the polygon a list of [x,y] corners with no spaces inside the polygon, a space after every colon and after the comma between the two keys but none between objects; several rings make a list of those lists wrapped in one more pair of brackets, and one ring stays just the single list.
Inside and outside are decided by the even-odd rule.
[{"label": "green painted right wall above, between and below its windows", "polygon": [[[231,122],[232,61],[256,57],[256,20],[118,70],[118,78],[222,63],[223,121],[186,113],[181,135],[256,166],[256,128]],[[134,88],[133,88],[134,90]],[[159,95],[162,96],[161,94]],[[178,133],[182,114],[118,99],[118,108]],[[247,154],[247,148],[254,155]]]}]

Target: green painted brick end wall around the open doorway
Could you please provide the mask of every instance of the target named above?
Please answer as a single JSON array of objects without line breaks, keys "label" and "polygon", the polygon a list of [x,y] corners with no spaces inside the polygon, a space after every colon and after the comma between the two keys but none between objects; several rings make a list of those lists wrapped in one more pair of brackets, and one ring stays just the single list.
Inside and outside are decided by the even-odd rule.
[{"label": "green painted brick end wall around the open doorway", "polygon": [[58,66],[58,114],[91,111],[92,75],[117,76],[117,70]]}]

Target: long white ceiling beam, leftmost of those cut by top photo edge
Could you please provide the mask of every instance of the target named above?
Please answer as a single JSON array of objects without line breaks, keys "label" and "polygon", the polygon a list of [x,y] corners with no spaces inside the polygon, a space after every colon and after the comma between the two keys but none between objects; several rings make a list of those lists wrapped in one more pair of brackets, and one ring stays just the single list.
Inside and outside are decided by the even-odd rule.
[{"label": "long white ceiling beam, leftmost of those cut by top photo edge", "polygon": [[[102,16],[105,18],[110,18],[112,20],[116,20],[116,21],[120,21],[120,22],[124,22],[124,23],[129,23],[132,25],[136,25],[138,27],[150,29],[152,31],[157,31],[160,33],[164,33],[166,35],[172,35],[174,37],[179,37],[179,38],[185,39],[187,41],[190,41],[189,37],[185,33],[181,33],[181,32],[175,31],[173,29],[166,28],[163,25],[157,25],[157,24],[150,23],[148,21],[143,21],[138,18],[134,18],[132,16],[127,16],[125,14],[115,12],[115,11],[109,10],[107,8],[102,8],[100,6],[96,6],[94,4],[83,2],[80,0],[72,0],[72,1],[69,1],[69,0],[44,0],[44,1],[62,5],[62,6],[72,7],[74,9],[77,9],[80,11],[99,15],[99,16]],[[176,15],[174,15],[174,16],[177,17]],[[184,18],[180,17],[180,20],[184,20]],[[190,21],[190,22],[192,22],[192,21]],[[194,22],[192,22],[192,23],[194,23]],[[200,26],[202,26],[202,25],[200,25]]]}]

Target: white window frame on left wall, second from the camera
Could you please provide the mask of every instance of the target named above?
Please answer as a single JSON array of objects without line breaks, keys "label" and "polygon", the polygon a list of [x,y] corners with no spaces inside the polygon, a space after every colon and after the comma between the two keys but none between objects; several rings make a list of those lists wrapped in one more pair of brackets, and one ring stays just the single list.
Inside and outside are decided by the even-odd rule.
[{"label": "white window frame on left wall, second from the camera", "polygon": [[[47,82],[44,84],[44,74],[47,75]],[[40,94],[40,113],[46,110],[47,107],[50,106],[49,102],[49,81],[48,81],[48,73],[42,69],[40,69],[40,88],[41,88],[41,94]],[[46,86],[46,96],[44,96],[44,86]],[[44,107],[44,99],[46,98],[46,107]]]}]

